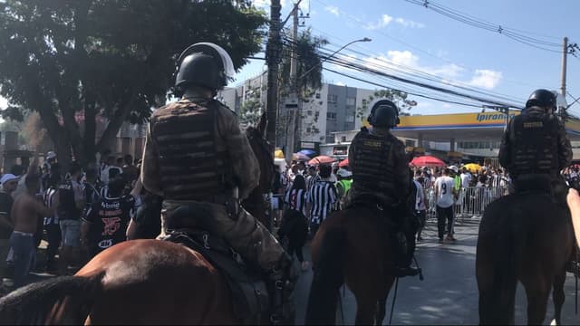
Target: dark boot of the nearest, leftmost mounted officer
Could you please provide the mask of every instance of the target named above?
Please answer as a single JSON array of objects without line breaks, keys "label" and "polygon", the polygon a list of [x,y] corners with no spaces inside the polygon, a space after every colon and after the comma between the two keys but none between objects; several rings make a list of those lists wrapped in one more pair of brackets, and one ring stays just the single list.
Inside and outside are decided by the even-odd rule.
[{"label": "dark boot of the nearest, leftmost mounted officer", "polygon": [[292,258],[287,254],[283,254],[278,264],[268,272],[266,286],[270,296],[270,322],[273,325],[295,323],[295,307],[292,302],[295,275]]}]

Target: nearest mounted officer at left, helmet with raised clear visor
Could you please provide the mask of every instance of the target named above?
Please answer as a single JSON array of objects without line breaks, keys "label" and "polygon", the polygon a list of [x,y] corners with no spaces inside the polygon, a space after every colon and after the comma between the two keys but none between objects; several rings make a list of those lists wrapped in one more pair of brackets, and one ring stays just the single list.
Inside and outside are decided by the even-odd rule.
[{"label": "nearest mounted officer at left, helmet with raised clear visor", "polygon": [[258,185],[259,165],[236,114],[214,100],[234,73],[229,54],[216,44],[195,43],[181,53],[174,90],[180,100],[151,117],[142,184],[164,197],[164,231],[207,230],[259,266],[275,301],[272,320],[280,320],[291,261],[239,205]]}]

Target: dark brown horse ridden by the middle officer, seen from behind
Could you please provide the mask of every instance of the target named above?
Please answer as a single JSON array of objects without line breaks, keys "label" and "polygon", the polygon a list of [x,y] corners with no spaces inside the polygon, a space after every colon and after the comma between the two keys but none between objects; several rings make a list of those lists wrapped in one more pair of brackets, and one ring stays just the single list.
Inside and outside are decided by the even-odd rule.
[{"label": "dark brown horse ridden by the middle officer, seen from behind", "polygon": [[329,216],[312,243],[314,279],[306,324],[333,324],[339,288],[356,298],[356,324],[382,324],[395,277],[390,225],[377,208],[353,206]]}]

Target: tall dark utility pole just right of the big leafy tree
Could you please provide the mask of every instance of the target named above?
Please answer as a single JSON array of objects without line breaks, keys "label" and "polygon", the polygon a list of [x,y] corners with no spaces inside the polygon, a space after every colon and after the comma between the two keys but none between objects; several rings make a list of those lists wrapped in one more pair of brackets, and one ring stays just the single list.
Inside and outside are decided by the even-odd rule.
[{"label": "tall dark utility pole just right of the big leafy tree", "polygon": [[270,30],[268,33],[268,43],[266,46],[266,62],[268,65],[267,76],[267,100],[266,116],[267,129],[266,139],[270,143],[270,152],[275,151],[275,129],[278,110],[278,63],[282,43],[280,41],[280,0],[271,0],[270,5]]}]

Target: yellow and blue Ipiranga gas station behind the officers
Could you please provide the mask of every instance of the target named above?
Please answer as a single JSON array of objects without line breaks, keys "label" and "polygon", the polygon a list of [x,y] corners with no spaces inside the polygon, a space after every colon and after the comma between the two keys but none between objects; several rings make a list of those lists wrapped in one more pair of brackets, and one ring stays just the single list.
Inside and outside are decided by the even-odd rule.
[{"label": "yellow and blue Ipiranga gas station behind the officers", "polygon": [[[519,110],[510,111],[509,117],[517,114]],[[391,131],[408,148],[419,148],[445,161],[484,163],[498,158],[506,116],[497,111],[401,116],[401,123]],[[368,126],[366,120],[363,124]],[[572,141],[574,159],[580,159],[580,120],[565,121],[565,129]],[[321,155],[346,158],[358,131],[335,132],[332,144],[320,145]]]}]

